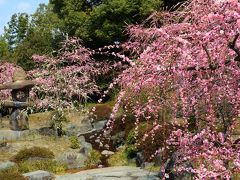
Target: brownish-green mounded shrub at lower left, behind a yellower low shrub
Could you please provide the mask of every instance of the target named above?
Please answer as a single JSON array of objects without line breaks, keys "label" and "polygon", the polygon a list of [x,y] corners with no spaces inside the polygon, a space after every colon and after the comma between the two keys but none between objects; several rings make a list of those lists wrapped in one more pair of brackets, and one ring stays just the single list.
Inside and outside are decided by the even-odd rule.
[{"label": "brownish-green mounded shrub at lower left, behind a yellower low shrub", "polygon": [[15,162],[22,162],[31,157],[53,159],[54,154],[52,151],[44,147],[31,147],[29,149],[25,148],[20,150],[15,156],[12,157],[12,160]]}]

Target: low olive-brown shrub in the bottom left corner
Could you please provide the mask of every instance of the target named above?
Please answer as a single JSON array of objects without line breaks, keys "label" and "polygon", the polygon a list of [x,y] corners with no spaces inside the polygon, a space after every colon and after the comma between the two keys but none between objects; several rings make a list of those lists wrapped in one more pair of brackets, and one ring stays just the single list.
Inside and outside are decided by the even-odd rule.
[{"label": "low olive-brown shrub in the bottom left corner", "polygon": [[1,180],[27,180],[16,167],[0,171]]}]

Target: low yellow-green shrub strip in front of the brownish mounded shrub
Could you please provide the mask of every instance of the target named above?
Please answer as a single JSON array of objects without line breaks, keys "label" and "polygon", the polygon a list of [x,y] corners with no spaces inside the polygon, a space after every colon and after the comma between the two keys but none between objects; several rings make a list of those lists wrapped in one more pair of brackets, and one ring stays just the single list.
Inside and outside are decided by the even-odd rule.
[{"label": "low yellow-green shrub strip in front of the brownish mounded shrub", "polygon": [[67,165],[55,160],[23,161],[18,164],[18,171],[21,173],[27,173],[39,169],[52,173],[62,173],[67,169]]}]

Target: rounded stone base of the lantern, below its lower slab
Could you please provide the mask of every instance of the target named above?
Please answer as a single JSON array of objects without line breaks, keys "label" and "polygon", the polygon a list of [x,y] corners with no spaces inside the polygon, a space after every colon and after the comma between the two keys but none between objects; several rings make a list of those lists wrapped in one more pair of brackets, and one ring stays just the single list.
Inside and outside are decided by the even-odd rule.
[{"label": "rounded stone base of the lantern, below its lower slab", "polygon": [[16,109],[10,116],[10,129],[13,131],[23,131],[29,129],[27,113]]}]

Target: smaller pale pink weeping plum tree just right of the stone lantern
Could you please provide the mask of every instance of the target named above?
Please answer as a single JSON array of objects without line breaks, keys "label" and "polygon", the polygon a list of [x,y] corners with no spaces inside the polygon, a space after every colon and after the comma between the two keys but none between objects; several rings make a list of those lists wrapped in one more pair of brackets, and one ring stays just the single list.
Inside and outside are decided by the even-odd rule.
[{"label": "smaller pale pink weeping plum tree just right of the stone lantern", "polygon": [[69,107],[74,101],[83,103],[88,95],[98,93],[95,77],[100,69],[78,39],[64,42],[56,58],[34,55],[33,60],[39,65],[29,72],[39,83],[32,94],[38,108]]}]

